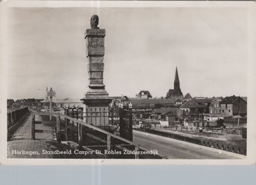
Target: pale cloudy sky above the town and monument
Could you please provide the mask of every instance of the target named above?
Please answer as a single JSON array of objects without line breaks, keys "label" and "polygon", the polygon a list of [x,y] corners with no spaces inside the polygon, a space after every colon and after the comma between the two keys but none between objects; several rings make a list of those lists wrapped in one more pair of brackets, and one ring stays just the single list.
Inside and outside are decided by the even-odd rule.
[{"label": "pale cloudy sky above the town and monument", "polygon": [[247,96],[248,31],[243,8],[10,8],[8,96],[83,98],[88,86],[84,32],[99,15],[106,29],[109,96]]}]

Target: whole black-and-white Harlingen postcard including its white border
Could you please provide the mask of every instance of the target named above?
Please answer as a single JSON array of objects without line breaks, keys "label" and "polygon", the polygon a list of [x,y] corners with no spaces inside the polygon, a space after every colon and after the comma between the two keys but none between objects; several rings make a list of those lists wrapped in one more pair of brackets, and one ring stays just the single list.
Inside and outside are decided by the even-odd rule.
[{"label": "whole black-and-white Harlingen postcard including its white border", "polygon": [[7,8],[7,164],[255,162],[248,4],[133,3]]}]

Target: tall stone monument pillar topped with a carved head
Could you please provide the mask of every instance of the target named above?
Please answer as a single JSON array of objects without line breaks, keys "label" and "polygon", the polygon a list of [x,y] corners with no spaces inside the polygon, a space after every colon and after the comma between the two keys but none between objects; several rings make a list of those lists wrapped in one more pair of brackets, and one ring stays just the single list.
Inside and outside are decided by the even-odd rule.
[{"label": "tall stone monument pillar topped with a carved head", "polygon": [[112,98],[109,98],[105,85],[103,84],[104,71],[104,37],[106,35],[105,29],[98,27],[99,17],[93,15],[91,18],[91,29],[86,29],[86,57],[88,58],[88,76],[89,85],[88,91],[81,99],[86,105],[86,116],[90,118],[85,119],[88,124],[94,126],[108,126],[109,125],[109,103]]}]

